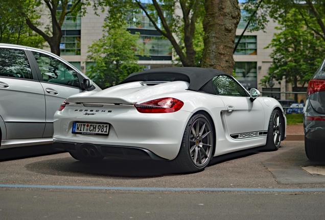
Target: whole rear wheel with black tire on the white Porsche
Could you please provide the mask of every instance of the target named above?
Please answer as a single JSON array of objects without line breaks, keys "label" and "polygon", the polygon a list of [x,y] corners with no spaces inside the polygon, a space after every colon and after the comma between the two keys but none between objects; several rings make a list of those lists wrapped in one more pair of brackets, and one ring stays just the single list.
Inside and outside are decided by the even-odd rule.
[{"label": "whole rear wheel with black tire on the white Porsche", "polygon": [[202,114],[194,115],[186,125],[179,153],[173,160],[174,166],[185,173],[202,171],[210,162],[213,151],[212,122]]}]

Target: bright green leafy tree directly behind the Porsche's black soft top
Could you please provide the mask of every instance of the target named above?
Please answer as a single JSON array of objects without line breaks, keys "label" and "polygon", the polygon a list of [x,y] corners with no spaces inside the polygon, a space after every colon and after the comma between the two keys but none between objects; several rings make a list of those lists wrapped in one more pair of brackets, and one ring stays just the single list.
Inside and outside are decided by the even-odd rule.
[{"label": "bright green leafy tree directly behind the Porsche's black soft top", "polygon": [[138,36],[127,31],[125,24],[105,22],[104,35],[88,48],[87,60],[95,62],[87,75],[101,88],[117,85],[130,73],[143,70],[135,56]]}]

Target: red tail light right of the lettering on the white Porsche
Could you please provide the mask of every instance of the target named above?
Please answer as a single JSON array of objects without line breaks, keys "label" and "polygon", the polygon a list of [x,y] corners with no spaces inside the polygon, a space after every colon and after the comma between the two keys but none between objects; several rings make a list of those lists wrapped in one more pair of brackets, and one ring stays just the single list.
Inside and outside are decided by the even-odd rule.
[{"label": "red tail light right of the lettering on the white Porsche", "polygon": [[184,102],[175,98],[159,98],[134,104],[140,113],[173,113],[177,112],[183,105]]}]

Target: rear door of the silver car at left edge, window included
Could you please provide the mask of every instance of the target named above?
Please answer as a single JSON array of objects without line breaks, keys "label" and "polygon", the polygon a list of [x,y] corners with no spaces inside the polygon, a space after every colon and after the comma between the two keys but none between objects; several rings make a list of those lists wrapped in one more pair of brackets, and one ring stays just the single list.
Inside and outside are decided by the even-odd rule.
[{"label": "rear door of the silver car at left edge, window included", "polygon": [[43,135],[44,91],[24,49],[0,47],[0,116],[7,131],[4,139]]}]

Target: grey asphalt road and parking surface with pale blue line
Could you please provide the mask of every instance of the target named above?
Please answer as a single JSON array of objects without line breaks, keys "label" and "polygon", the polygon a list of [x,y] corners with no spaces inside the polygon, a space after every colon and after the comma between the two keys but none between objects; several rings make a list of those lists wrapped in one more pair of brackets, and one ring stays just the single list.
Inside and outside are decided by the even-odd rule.
[{"label": "grey asphalt road and parking surface with pale blue line", "polygon": [[0,153],[0,219],[325,219],[325,176],[301,168],[324,164],[303,142],[219,157],[194,174],[161,161]]}]

